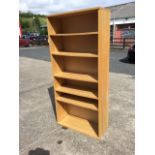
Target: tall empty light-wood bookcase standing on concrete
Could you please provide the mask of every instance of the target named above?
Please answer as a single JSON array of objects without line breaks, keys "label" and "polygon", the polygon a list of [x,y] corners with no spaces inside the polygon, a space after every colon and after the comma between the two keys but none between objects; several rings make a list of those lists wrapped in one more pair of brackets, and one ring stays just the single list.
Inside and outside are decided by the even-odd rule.
[{"label": "tall empty light-wood bookcase standing on concrete", "polygon": [[57,122],[99,138],[108,126],[110,11],[47,17]]}]

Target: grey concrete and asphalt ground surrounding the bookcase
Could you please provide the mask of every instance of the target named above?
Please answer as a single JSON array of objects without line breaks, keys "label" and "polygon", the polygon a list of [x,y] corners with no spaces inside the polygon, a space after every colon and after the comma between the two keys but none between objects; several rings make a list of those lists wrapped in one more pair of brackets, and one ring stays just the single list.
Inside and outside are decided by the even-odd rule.
[{"label": "grey concrete and asphalt ground surrounding the bookcase", "polygon": [[109,128],[96,140],[57,125],[48,51],[20,49],[20,155],[133,155],[134,64],[123,63],[126,52],[111,50]]}]

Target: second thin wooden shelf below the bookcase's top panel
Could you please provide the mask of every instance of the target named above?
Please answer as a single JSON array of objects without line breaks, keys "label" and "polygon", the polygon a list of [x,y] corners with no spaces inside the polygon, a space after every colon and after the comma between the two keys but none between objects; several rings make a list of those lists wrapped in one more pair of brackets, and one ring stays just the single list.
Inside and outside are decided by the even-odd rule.
[{"label": "second thin wooden shelf below the bookcase's top panel", "polygon": [[52,55],[56,56],[67,56],[67,57],[86,57],[86,58],[97,58],[98,55],[94,53],[80,53],[80,52],[64,52],[64,51],[59,51],[59,52],[53,52]]}]

